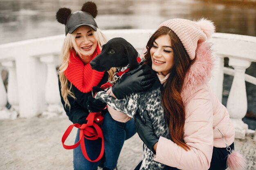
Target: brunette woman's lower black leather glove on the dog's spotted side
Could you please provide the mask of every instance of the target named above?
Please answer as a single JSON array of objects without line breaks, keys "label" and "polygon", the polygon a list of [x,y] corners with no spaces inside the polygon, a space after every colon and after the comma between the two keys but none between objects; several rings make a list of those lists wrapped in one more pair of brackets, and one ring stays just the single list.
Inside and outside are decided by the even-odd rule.
[{"label": "brunette woman's lower black leather glove on the dog's spotted side", "polygon": [[155,135],[153,123],[148,116],[148,110],[144,110],[143,118],[145,119],[145,121],[141,120],[138,113],[134,117],[137,133],[139,135],[139,138],[144,142],[148,149],[150,149],[155,154],[155,150],[153,147],[158,142],[159,138],[157,137],[157,135]]}]

